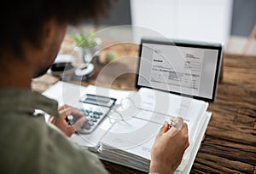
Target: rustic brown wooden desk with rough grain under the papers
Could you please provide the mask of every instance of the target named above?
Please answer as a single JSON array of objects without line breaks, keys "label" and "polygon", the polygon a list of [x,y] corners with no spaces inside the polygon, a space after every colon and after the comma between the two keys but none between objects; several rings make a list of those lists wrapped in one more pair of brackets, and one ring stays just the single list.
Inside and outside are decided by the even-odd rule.
[{"label": "rustic brown wooden desk with rough grain under the papers", "polygon": [[[96,73],[84,82],[113,89],[134,89],[137,45],[121,44],[112,48],[120,59],[109,65],[105,73],[99,65]],[[122,55],[123,54],[123,55]],[[128,57],[128,58],[127,58]],[[129,57],[131,58],[129,60]],[[103,68],[104,69],[104,68]],[[126,73],[109,84],[120,71]],[[98,78],[101,73],[101,78]],[[49,75],[33,80],[32,88],[43,92],[58,79]],[[256,56],[224,56],[224,77],[218,85],[217,100],[210,103],[212,119],[201,142],[191,173],[256,173]],[[112,173],[143,173],[103,161]]]}]

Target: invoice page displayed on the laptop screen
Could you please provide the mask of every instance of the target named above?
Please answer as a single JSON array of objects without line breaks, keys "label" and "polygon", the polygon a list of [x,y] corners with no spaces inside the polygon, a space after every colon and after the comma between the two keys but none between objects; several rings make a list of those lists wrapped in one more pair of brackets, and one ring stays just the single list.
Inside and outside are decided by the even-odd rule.
[{"label": "invoice page displayed on the laptop screen", "polygon": [[172,91],[198,95],[201,83],[203,49],[179,47],[152,48],[150,82],[161,90],[172,86]]}]

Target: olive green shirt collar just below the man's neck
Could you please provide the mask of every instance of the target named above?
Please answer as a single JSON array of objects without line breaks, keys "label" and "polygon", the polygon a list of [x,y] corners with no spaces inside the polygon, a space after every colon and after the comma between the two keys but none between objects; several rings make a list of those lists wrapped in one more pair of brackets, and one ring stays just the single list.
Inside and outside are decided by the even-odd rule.
[{"label": "olive green shirt collar just below the man's neck", "polygon": [[20,113],[34,113],[40,109],[58,117],[58,102],[31,90],[0,90],[0,109]]}]

